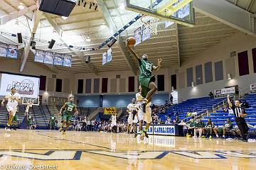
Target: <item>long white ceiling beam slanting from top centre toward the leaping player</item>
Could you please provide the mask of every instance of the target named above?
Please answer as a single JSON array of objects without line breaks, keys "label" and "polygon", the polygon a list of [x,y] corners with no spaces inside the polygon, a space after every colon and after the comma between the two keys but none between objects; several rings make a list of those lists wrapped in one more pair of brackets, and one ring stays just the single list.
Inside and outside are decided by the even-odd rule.
[{"label": "long white ceiling beam slanting from top centre toward the leaping player", "polygon": [[[107,27],[109,28],[111,33],[117,32],[117,26],[115,25],[113,18],[110,15],[110,11],[108,11],[107,6],[104,1],[102,0],[97,0],[97,4],[100,5],[100,12],[102,13],[103,19],[105,20],[105,23],[107,24]],[[124,55],[125,60],[127,61],[127,64],[129,68],[132,70],[133,74],[137,74],[137,69],[134,66],[134,63],[132,62],[132,57],[130,57],[129,52],[127,51],[125,44],[119,35],[117,37],[117,45],[119,49],[121,50],[122,54]]]}]

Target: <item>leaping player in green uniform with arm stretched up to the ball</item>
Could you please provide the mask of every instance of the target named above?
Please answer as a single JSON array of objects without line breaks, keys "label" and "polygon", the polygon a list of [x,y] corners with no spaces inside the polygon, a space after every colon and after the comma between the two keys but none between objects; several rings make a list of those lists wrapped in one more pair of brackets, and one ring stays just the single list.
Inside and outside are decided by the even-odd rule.
[{"label": "leaping player in green uniform with arm stretched up to the ball", "polygon": [[158,71],[160,69],[162,59],[159,58],[157,66],[154,66],[154,64],[148,61],[147,55],[142,55],[142,59],[139,58],[132,47],[128,45],[128,39],[126,47],[129,53],[139,62],[139,84],[142,86],[142,96],[144,97],[144,101],[141,103],[141,108],[143,113],[146,113],[146,104],[151,101],[152,96],[157,91],[157,86],[154,83],[156,79],[154,75],[152,75],[152,71]]}]

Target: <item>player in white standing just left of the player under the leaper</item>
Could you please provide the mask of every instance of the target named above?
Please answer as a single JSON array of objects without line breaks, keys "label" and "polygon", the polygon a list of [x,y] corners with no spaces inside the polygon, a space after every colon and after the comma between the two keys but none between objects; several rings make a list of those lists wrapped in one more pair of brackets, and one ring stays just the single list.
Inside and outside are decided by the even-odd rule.
[{"label": "player in white standing just left of the player under the leaper", "polygon": [[133,127],[133,131],[134,131],[134,137],[137,137],[137,123],[138,123],[138,105],[136,103],[136,99],[132,98],[132,103],[129,103],[129,105],[127,106],[127,111],[129,113],[129,117],[128,117],[128,133],[130,132],[131,129],[131,125]]}]

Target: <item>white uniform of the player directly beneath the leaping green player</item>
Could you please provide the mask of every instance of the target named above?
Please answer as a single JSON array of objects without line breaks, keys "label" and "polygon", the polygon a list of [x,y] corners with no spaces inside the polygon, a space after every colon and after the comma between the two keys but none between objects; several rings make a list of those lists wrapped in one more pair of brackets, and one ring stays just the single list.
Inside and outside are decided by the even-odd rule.
[{"label": "white uniform of the player directly beneath the leaping green player", "polygon": [[[142,96],[142,94],[140,93],[137,93],[136,94],[136,100],[137,100],[137,103],[140,104],[140,100],[142,100],[144,97]],[[142,112],[141,109],[139,109],[138,111],[138,115],[139,115],[139,120],[144,120],[146,123],[151,123],[151,108],[150,108],[150,105],[151,105],[151,102],[147,103],[146,104],[146,113],[144,114]]]}]

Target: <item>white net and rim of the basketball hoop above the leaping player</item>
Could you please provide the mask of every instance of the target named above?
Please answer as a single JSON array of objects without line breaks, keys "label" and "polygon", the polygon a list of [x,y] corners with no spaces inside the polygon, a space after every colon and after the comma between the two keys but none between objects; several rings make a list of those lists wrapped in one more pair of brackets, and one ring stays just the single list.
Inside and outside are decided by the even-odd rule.
[{"label": "white net and rim of the basketball hoop above the leaping player", "polygon": [[157,35],[157,26],[161,22],[159,18],[144,15],[140,18],[145,26],[148,26],[152,35]]}]

